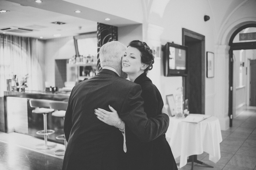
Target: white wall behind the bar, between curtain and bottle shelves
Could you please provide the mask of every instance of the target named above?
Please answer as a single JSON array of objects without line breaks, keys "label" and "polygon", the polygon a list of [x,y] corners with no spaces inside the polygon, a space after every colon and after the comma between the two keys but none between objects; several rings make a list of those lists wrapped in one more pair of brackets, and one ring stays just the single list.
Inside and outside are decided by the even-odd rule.
[{"label": "white wall behind the bar, between curtain and bottle shelves", "polygon": [[70,59],[76,55],[73,37],[49,39],[45,42],[45,76],[55,86],[55,59]]}]

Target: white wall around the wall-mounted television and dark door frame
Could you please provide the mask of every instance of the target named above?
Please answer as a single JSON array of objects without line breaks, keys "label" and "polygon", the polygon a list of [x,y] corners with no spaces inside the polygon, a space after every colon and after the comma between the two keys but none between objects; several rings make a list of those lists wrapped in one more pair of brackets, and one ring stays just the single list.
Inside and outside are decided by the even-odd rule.
[{"label": "white wall around the wall-mounted television and dark door frame", "polygon": [[[182,7],[182,8],[181,8]],[[204,21],[204,15],[212,16],[211,8],[205,0],[183,1],[172,0],[164,9],[163,17],[152,12],[149,14],[148,20],[151,23],[163,27],[161,35],[161,43],[174,42],[182,45],[182,28],[195,31],[206,37],[205,51],[214,52],[215,30],[214,20]],[[206,56],[206,54],[205,54]],[[162,63],[161,63],[162,64]],[[182,87],[182,77],[164,77],[163,64],[161,69],[161,94],[164,102],[166,95],[176,94],[177,88]],[[215,68],[215,70],[218,68]],[[153,68],[154,70],[154,68]],[[153,71],[152,70],[152,71]],[[154,82],[154,80],[153,80]],[[214,115],[214,97],[215,97],[215,78],[206,78],[206,114]]]}]

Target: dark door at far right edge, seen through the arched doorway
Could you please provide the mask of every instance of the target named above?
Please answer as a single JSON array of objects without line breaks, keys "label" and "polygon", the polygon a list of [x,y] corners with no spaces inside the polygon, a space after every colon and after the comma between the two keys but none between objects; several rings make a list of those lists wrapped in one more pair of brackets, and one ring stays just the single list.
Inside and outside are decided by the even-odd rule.
[{"label": "dark door at far right edge, seen through the arched doorway", "polygon": [[256,59],[250,60],[250,106],[256,106]]}]

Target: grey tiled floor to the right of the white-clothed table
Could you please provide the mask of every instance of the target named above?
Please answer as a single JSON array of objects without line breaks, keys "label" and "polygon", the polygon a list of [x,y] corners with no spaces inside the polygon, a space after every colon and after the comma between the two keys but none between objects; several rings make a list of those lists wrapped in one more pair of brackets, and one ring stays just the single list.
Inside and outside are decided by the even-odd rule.
[{"label": "grey tiled floor to the right of the white-clothed table", "polygon": [[[215,164],[203,153],[198,160],[213,166],[195,164],[194,170],[256,170],[256,108],[248,108],[233,119],[233,127],[221,131],[221,159]],[[191,163],[179,168],[191,170]]]}]

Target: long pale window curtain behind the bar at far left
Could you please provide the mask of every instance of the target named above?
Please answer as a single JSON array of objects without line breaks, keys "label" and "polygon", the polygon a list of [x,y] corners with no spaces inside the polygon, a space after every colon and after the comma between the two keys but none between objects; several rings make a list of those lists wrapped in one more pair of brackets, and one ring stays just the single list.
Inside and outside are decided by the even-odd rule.
[{"label": "long pale window curtain behind the bar at far left", "polygon": [[0,96],[7,90],[6,79],[16,79],[20,85],[27,79],[26,90],[44,89],[44,43],[38,39],[0,34]]}]

